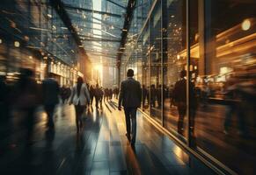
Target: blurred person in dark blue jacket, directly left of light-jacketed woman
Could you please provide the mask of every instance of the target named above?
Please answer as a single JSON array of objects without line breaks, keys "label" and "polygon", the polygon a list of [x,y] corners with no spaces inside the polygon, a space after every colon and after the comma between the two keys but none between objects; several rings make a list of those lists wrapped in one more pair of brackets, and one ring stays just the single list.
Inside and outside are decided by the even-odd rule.
[{"label": "blurred person in dark blue jacket, directly left of light-jacketed woman", "polygon": [[[62,91],[64,91],[64,88],[62,88]],[[49,77],[42,81],[42,94],[44,109],[48,114],[47,126],[49,129],[54,129],[54,112],[55,106],[59,103],[60,87],[52,74],[49,74]]]}]

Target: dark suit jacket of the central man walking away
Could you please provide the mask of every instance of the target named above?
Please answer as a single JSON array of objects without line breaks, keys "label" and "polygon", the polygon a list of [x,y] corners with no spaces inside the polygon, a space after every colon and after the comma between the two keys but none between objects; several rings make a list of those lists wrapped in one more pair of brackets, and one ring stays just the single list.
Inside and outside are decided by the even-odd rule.
[{"label": "dark suit jacket of the central man walking away", "polygon": [[142,89],[139,81],[128,77],[126,81],[121,82],[119,106],[124,108],[139,108],[142,102]]}]

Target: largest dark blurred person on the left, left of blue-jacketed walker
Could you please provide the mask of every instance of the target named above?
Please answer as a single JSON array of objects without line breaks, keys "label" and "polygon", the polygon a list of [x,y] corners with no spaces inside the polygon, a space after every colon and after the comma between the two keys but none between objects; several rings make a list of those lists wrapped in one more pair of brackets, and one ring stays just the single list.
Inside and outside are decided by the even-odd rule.
[{"label": "largest dark blurred person on the left, left of blue-jacketed walker", "polygon": [[40,88],[34,80],[34,73],[30,69],[21,69],[16,86],[15,106],[25,114],[26,144],[32,144],[35,109],[40,104]]}]

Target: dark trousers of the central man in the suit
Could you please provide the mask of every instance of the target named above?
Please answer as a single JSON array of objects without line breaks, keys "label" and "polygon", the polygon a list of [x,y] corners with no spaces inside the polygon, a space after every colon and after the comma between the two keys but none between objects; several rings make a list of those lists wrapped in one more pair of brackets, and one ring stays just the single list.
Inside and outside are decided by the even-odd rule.
[{"label": "dark trousers of the central man in the suit", "polygon": [[[125,112],[125,119],[126,119],[127,134],[128,134],[128,136],[130,136],[130,134],[132,134],[131,144],[135,144],[137,108],[124,108],[124,112]],[[132,122],[132,130],[131,130],[131,122]],[[131,131],[132,131],[132,133],[131,133]]]}]

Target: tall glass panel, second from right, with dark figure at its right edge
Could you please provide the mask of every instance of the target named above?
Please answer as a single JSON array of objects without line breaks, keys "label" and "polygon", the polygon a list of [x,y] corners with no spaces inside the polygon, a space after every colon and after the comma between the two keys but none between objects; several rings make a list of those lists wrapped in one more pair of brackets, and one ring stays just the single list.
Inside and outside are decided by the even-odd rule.
[{"label": "tall glass panel, second from right, with dark figure at its right edge", "polygon": [[164,126],[187,137],[186,1],[163,1]]}]

